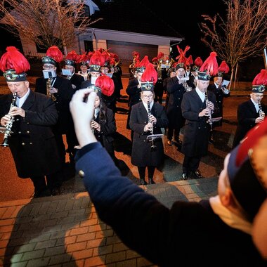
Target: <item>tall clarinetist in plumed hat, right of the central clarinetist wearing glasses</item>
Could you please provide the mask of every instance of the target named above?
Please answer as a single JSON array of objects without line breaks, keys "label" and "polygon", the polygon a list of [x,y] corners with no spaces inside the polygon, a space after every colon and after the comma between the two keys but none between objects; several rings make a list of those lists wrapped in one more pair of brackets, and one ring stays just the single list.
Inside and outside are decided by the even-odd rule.
[{"label": "tall clarinetist in plumed hat, right of the central clarinetist wearing glasses", "polygon": [[211,75],[218,72],[216,53],[211,52],[197,72],[197,86],[183,94],[181,110],[185,118],[185,128],[181,152],[184,154],[182,178],[203,178],[200,170],[200,159],[208,152],[209,131],[208,119],[216,111],[214,93],[207,91]]}]

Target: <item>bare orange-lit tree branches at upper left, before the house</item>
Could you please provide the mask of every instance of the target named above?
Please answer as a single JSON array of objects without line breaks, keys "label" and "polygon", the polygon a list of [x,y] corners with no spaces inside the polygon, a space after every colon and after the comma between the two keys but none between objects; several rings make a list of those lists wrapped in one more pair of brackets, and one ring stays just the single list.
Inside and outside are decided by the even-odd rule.
[{"label": "bare orange-lit tree branches at upper left, before the house", "polygon": [[2,27],[38,46],[72,46],[77,35],[102,19],[92,21],[85,16],[84,7],[82,0],[2,0]]}]

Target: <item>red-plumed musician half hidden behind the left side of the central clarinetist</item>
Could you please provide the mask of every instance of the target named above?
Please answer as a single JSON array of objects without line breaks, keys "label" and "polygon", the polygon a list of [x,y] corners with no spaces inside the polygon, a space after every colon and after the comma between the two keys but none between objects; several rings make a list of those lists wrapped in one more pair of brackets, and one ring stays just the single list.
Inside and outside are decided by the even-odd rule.
[{"label": "red-plumed musician half hidden behind the left side of the central clarinetist", "polygon": [[[143,72],[145,71],[145,67],[147,67],[148,64],[151,64],[148,60],[148,56],[144,56],[140,62],[136,61],[134,68],[136,69],[137,76],[133,79],[129,79],[129,84],[126,88],[126,93],[129,96],[129,112],[126,123],[127,129],[131,129],[131,127],[129,126],[131,107],[141,101],[141,77],[143,75]],[[131,140],[133,140],[133,131],[131,131]]]}]

